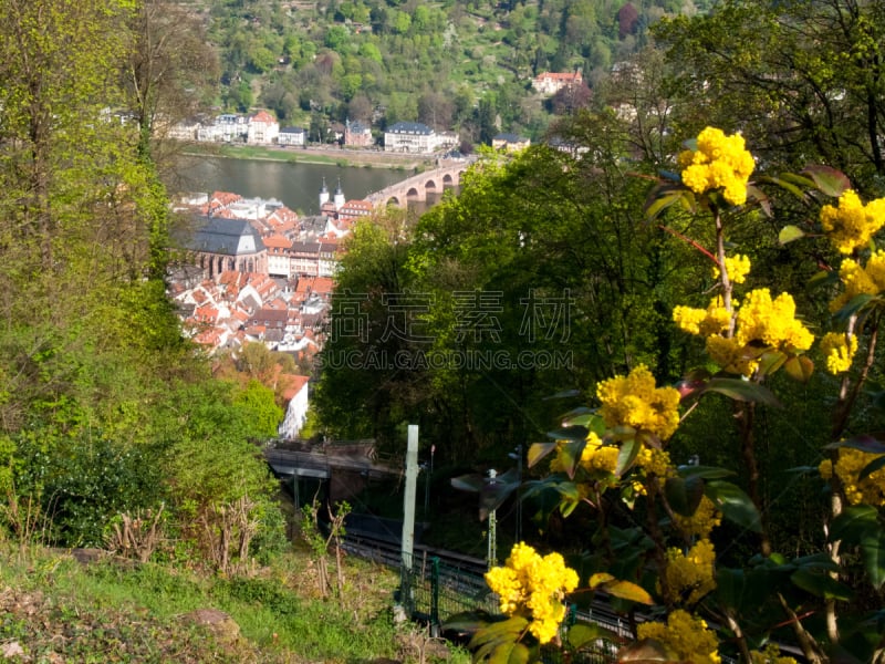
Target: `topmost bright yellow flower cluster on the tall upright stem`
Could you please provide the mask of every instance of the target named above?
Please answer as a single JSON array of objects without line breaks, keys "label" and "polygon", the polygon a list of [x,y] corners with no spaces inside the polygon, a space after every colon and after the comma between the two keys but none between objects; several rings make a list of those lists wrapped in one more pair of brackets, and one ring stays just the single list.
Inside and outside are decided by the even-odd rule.
[{"label": "topmost bright yellow flower cluster on the tall upright stem", "polygon": [[679,155],[683,184],[695,194],[725,189],[731,205],[747,200],[747,181],[756,167],[753,156],[745,149],[739,134],[726,136],[722,129],[707,127],[698,134],[696,151]]}]

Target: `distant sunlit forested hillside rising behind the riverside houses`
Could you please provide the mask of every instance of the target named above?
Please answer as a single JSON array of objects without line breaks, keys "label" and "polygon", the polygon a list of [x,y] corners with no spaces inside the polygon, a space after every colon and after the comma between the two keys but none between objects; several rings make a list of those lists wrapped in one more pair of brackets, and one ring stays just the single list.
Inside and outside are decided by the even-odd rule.
[{"label": "distant sunlit forested hillside rising behind the riverside houses", "polygon": [[[246,0],[197,13],[220,54],[223,108],[271,108],[314,141],[350,118],[375,129],[418,121],[488,144],[501,131],[539,138],[552,114],[585,105],[648,43],[650,24],[702,10],[690,0]],[[543,98],[531,80],[544,71],[580,71],[589,87]]]}]

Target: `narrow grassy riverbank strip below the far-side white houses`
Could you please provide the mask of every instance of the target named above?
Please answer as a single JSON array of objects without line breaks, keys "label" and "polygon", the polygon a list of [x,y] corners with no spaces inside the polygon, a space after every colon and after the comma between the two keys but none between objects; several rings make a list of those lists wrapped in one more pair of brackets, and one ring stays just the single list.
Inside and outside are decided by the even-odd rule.
[{"label": "narrow grassy riverbank strip below the far-side white houses", "polygon": [[424,170],[433,166],[433,157],[385,153],[373,149],[342,147],[264,147],[217,143],[188,143],[183,148],[187,156],[226,157],[233,159],[258,159],[287,162],[291,164],[316,164],[350,166],[357,168],[394,168],[396,170]]}]

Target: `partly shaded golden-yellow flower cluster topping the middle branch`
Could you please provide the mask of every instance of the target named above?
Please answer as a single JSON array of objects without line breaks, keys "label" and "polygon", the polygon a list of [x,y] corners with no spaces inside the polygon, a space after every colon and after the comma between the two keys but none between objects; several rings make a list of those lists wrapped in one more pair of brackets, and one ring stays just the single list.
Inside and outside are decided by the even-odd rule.
[{"label": "partly shaded golden-yellow flower cluster topping the middle branch", "polygon": [[627,376],[601,382],[596,396],[608,427],[629,426],[666,440],[679,426],[679,392],[674,387],[655,387],[655,377],[644,365]]}]

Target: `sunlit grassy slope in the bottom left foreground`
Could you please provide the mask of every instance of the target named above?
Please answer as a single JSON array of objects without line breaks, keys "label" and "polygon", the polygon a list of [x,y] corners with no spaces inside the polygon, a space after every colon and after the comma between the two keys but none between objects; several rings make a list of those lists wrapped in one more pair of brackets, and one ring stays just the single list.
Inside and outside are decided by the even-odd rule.
[{"label": "sunlit grassy slope in the bottom left foreground", "polygon": [[[0,643],[19,662],[420,661],[426,634],[393,621],[398,574],[348,559],[344,578],[343,596],[324,600],[300,553],[227,579],[0,542]],[[205,613],[223,621],[201,624]],[[434,644],[425,661],[469,662]]]}]

